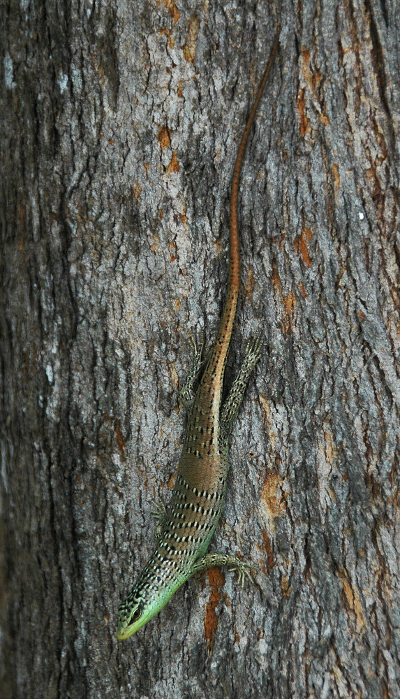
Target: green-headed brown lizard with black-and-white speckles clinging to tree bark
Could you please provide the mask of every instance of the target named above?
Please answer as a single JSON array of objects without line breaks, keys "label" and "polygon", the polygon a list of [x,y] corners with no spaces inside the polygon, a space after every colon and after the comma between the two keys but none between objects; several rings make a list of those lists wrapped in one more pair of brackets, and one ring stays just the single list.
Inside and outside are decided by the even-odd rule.
[{"label": "green-headed brown lizard with black-and-white speckles clinging to tree bark", "polygon": [[136,633],[168,603],[186,580],[214,565],[237,570],[239,582],[252,581],[249,565],[229,554],[207,554],[221,515],[228,474],[228,440],[246,385],[260,359],[260,336],[249,340],[242,365],[223,401],[223,380],[232,339],[240,286],[238,196],[242,161],[258,104],[264,92],[279,43],[276,31],[272,53],[262,77],[237,151],[230,196],[229,273],[225,305],[216,339],[205,361],[191,336],[193,365],[180,391],[188,421],[175,485],[168,507],[158,505],[156,548],[119,606],[117,638]]}]

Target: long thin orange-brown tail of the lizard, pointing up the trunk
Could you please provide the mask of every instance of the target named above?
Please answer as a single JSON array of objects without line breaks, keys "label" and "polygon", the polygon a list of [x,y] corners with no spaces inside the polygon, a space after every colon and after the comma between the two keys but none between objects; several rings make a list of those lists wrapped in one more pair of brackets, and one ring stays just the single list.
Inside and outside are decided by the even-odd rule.
[{"label": "long thin orange-brown tail of the lizard, pointing up the trunk", "polygon": [[[249,119],[247,120],[246,128],[242,136],[242,140],[239,145],[239,150],[237,151],[237,158],[235,162],[235,167],[233,168],[232,175],[232,187],[230,195],[230,236],[229,236],[229,275],[228,275],[228,289],[226,293],[225,305],[223,307],[223,312],[221,316],[221,322],[219,324],[218,333],[214,345],[214,364],[213,369],[216,374],[223,376],[223,371],[225,370],[225,363],[228,358],[230,339],[232,337],[233,324],[235,322],[237,300],[239,298],[239,288],[240,288],[240,241],[239,241],[239,224],[237,220],[237,200],[239,195],[239,184],[240,184],[240,174],[242,171],[242,161],[244,157],[244,151],[246,149],[246,143],[249,138],[250,129],[253,125],[255,113],[257,112],[258,104],[264,92],[265,85],[268,80],[269,73],[274,62],[274,57],[279,43],[279,34],[281,28],[278,25],[276,29],[276,36],[274,41],[274,46],[272,48],[271,56],[265,73],[262,76],[260,82],[260,87],[258,87],[257,94],[251,108],[251,113]],[[212,352],[212,354],[214,354]],[[212,357],[210,356],[210,359]]]}]

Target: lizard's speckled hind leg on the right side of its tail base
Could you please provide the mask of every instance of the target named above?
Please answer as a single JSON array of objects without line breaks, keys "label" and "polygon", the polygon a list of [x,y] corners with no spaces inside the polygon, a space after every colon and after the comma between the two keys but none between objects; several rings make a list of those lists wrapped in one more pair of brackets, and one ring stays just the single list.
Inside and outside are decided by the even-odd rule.
[{"label": "lizard's speckled hind leg on the right side of its tail base", "polygon": [[258,333],[255,337],[250,338],[246,345],[242,365],[232,382],[228,396],[221,409],[221,427],[226,437],[232,431],[232,424],[242,404],[244,391],[246,391],[253,368],[260,359],[261,349],[262,340],[260,333]]}]

